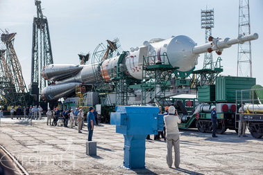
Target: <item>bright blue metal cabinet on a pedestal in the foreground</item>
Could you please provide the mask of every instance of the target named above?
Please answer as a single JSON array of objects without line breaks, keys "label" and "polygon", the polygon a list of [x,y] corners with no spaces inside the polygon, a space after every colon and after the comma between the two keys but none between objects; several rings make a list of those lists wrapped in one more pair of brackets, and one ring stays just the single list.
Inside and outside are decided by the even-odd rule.
[{"label": "bright blue metal cabinet on a pedestal in the foreground", "polygon": [[115,111],[110,114],[110,124],[116,125],[117,133],[124,134],[124,166],[144,168],[146,136],[158,134],[164,126],[159,108],[119,106]]}]

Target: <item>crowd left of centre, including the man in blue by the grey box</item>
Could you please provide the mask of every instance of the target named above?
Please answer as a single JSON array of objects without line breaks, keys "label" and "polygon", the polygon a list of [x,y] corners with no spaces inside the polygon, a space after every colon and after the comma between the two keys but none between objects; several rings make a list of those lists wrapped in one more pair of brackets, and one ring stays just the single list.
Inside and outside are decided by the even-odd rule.
[{"label": "crowd left of centre, including the man in blue by the grey box", "polygon": [[[82,133],[83,125],[84,125],[84,111],[83,109],[76,108],[74,109],[64,109],[60,111],[58,107],[54,108],[52,111],[48,109],[46,112],[46,125],[57,126],[58,122],[60,125],[64,127],[73,128],[78,126],[78,133]],[[52,124],[51,119],[53,118]],[[89,131],[88,141],[92,141],[94,125],[98,125],[98,113],[94,109],[94,107],[89,108],[89,112],[87,113],[87,129]]]}]

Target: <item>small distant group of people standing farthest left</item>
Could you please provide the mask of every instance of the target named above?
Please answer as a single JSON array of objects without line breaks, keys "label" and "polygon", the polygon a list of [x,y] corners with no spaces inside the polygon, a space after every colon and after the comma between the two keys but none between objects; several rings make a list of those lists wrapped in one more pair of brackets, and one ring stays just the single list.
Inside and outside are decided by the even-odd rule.
[{"label": "small distant group of people standing farthest left", "polygon": [[22,107],[18,106],[17,109],[15,109],[15,107],[11,107],[10,108],[10,116],[13,119],[14,116],[18,118],[22,118],[22,116],[24,116],[24,118],[31,118],[33,117],[33,119],[37,120],[37,119],[42,119],[42,113],[43,113],[43,109],[40,106],[30,106],[30,107]]}]

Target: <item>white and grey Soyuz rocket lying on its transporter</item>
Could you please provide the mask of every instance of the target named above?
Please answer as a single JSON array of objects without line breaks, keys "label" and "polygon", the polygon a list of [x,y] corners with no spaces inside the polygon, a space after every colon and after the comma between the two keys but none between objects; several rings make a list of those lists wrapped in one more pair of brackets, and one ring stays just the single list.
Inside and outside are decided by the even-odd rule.
[{"label": "white and grey Soyuz rocket lying on its transporter", "polygon": [[[149,59],[147,64],[160,64],[169,62],[173,67],[179,67],[177,71],[186,73],[196,66],[201,53],[211,53],[215,51],[221,55],[224,48],[229,48],[233,44],[239,44],[257,39],[257,33],[253,35],[239,35],[235,39],[209,38],[209,43],[197,45],[191,38],[179,35],[169,39],[151,39],[144,42],[143,46],[127,52],[124,57],[121,55],[105,59],[102,62],[76,65],[76,64],[49,64],[42,70],[42,77],[54,82],[41,92],[41,98],[46,101],[65,98],[75,91],[78,84],[95,84],[96,80],[102,78],[105,82],[110,82],[112,71],[116,70],[117,64],[121,62],[121,71],[130,78],[142,80],[142,66],[144,57],[154,57]],[[161,57],[160,55],[167,55]],[[163,59],[163,60],[162,60]],[[100,74],[94,73],[94,70]]]}]

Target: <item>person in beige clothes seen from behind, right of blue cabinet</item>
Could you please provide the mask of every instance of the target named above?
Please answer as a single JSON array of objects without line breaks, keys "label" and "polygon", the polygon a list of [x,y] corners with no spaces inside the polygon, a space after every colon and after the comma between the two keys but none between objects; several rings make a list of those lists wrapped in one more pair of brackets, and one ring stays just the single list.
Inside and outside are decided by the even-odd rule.
[{"label": "person in beige clothes seen from behind, right of blue cabinet", "polygon": [[180,165],[180,136],[178,123],[181,122],[176,108],[171,106],[168,109],[169,113],[164,116],[164,125],[166,128],[167,141],[167,165],[171,168],[173,164],[173,149],[174,149],[174,166],[179,168]]}]

